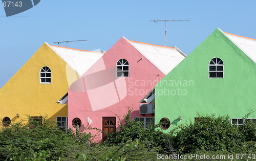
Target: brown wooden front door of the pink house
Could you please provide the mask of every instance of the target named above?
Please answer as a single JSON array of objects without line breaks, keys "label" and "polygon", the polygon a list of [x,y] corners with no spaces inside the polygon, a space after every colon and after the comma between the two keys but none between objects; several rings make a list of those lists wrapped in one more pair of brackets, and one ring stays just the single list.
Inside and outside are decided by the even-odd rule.
[{"label": "brown wooden front door of the pink house", "polygon": [[[116,131],[116,117],[102,117],[102,131],[112,133]],[[106,134],[102,132],[102,141],[106,141]]]}]

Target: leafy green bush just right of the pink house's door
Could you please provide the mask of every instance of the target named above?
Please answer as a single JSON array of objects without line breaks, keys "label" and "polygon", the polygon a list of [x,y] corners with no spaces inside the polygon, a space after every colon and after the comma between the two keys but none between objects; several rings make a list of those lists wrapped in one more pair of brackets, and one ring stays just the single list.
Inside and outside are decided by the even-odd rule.
[{"label": "leafy green bush just right of the pink house's door", "polygon": [[[122,146],[129,140],[139,139],[145,143],[145,148],[148,151],[169,151],[169,134],[164,133],[158,127],[147,126],[144,128],[144,124],[139,121],[132,121],[131,118],[132,109],[128,108],[127,114],[124,115],[124,124],[122,124],[122,119],[119,117],[119,130],[112,133],[108,133],[108,140],[106,140],[103,145],[105,146]],[[167,145],[168,144],[168,145]]]}]

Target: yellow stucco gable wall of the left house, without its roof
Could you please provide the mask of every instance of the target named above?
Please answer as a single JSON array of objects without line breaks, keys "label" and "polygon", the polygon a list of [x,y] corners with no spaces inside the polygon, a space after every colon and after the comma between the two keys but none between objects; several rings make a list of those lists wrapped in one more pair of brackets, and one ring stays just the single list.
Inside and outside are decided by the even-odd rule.
[{"label": "yellow stucco gable wall of the left house, without its roof", "polygon": [[[51,120],[67,117],[67,105],[56,102],[67,93],[67,63],[44,43],[19,71],[0,89],[0,125],[4,117],[11,122],[48,115]],[[51,84],[40,84],[41,67],[51,68]],[[69,68],[69,71],[72,69]],[[69,82],[71,83],[71,82]],[[16,114],[19,113],[19,118]]]}]

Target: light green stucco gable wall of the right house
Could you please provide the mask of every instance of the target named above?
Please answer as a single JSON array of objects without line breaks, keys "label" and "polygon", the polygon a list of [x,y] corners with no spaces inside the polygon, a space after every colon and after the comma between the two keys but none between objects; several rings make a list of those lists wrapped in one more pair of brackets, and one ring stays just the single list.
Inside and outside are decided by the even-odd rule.
[{"label": "light green stucco gable wall of the right house", "polygon": [[[214,57],[224,63],[224,78],[208,78],[208,63]],[[216,29],[158,82],[155,122],[168,118],[171,126],[164,130],[168,132],[194,122],[197,113],[243,118],[255,105],[256,63]],[[248,118],[256,118],[256,112]]]}]

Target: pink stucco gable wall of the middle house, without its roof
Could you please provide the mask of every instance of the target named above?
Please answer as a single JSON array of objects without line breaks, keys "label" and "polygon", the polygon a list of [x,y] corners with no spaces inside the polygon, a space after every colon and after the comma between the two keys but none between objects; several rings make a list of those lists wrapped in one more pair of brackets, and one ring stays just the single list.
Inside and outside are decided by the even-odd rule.
[{"label": "pink stucco gable wall of the middle house, without its roof", "polygon": [[[126,59],[129,62],[130,76],[117,79],[115,81],[116,88],[113,90],[109,75],[110,71],[116,68],[116,63],[120,59]],[[99,72],[105,69],[106,74]],[[102,117],[119,116],[122,118],[127,112],[127,107],[134,109],[131,119],[143,117],[139,113],[139,101],[163,77],[164,74],[132,44],[125,38],[119,39],[101,59],[71,85],[69,89],[68,126],[72,126],[74,118],[79,118],[82,126],[88,127],[87,118],[89,117],[92,120],[91,127],[102,129]],[[105,88],[100,87],[104,85]],[[92,91],[94,94],[91,94]],[[105,104],[110,106],[104,108]],[[146,114],[145,117],[153,116]],[[117,128],[118,125],[117,118]],[[95,130],[87,132],[96,133]],[[99,134],[101,137],[101,133]]]}]

